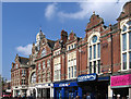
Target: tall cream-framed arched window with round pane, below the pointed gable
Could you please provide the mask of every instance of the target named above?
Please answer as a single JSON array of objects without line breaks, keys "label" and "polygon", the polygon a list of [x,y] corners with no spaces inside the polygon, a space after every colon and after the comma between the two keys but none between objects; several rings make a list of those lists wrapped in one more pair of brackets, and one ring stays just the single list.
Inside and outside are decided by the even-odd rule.
[{"label": "tall cream-framed arched window with round pane, below the pointed gable", "polygon": [[88,59],[90,66],[88,72],[100,73],[100,40],[99,33],[91,35],[88,45]]}]

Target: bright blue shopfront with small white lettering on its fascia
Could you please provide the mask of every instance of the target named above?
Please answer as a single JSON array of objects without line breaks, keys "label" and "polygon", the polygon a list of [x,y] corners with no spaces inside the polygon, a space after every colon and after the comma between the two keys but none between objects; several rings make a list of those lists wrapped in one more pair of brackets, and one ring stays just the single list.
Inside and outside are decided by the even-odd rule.
[{"label": "bright blue shopfront with small white lettering on its fascia", "polygon": [[78,96],[76,81],[55,83],[53,96],[53,99],[74,99]]}]

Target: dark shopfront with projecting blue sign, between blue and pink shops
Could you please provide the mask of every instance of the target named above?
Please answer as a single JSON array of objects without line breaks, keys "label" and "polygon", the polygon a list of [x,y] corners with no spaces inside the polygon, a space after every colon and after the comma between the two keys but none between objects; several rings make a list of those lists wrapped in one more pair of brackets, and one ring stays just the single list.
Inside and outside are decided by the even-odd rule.
[{"label": "dark shopfront with projecting blue sign, between blue and pink shops", "polygon": [[91,99],[108,98],[109,77],[98,77],[97,74],[85,74],[78,77],[79,96]]}]

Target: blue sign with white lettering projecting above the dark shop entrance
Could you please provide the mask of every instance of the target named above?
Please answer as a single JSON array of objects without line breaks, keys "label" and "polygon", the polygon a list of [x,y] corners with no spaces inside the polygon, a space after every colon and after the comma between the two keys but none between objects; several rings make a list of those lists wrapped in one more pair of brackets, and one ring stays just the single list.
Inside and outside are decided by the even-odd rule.
[{"label": "blue sign with white lettering projecting above the dark shop entrance", "polygon": [[95,79],[96,79],[96,73],[80,75],[78,77],[78,82],[87,82],[87,81],[95,81]]}]

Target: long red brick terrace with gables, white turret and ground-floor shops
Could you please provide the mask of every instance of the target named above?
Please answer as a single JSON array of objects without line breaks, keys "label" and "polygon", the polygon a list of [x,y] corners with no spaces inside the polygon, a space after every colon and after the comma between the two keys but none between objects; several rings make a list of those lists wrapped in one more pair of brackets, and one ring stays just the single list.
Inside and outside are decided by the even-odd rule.
[{"label": "long red brick terrace with gables, white turret and ground-floor shops", "polygon": [[[94,12],[84,38],[62,29],[61,38],[53,41],[40,30],[27,64],[27,96],[131,97],[131,1],[123,5],[117,21],[105,26]],[[16,60],[12,63],[12,86],[16,84],[13,79],[16,63]]]}]

